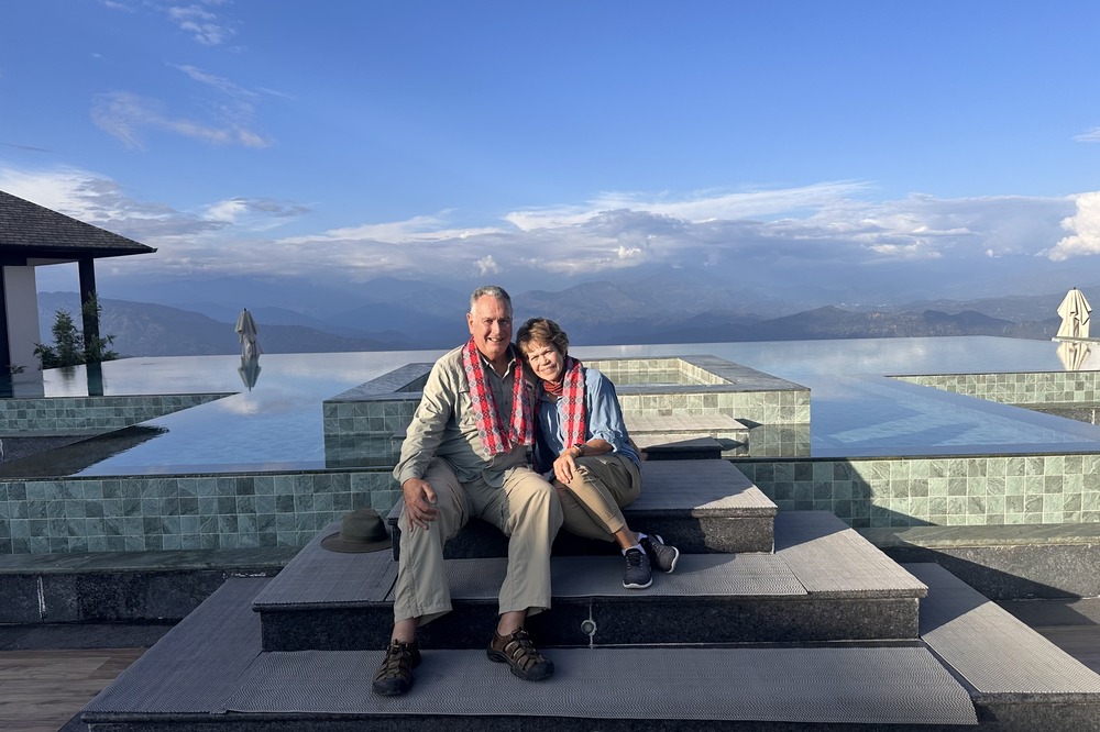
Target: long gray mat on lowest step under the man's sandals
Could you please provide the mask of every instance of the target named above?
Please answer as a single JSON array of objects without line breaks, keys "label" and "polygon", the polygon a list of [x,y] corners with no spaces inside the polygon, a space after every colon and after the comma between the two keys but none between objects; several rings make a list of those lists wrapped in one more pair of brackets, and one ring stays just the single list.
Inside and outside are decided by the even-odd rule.
[{"label": "long gray mat on lowest step under the man's sandals", "polygon": [[[328,712],[975,724],[966,691],[921,647],[550,650],[526,683],[484,651],[427,651],[413,690],[375,697],[381,652],[270,653],[226,708]],[[660,669],[661,694],[622,669]]]}]

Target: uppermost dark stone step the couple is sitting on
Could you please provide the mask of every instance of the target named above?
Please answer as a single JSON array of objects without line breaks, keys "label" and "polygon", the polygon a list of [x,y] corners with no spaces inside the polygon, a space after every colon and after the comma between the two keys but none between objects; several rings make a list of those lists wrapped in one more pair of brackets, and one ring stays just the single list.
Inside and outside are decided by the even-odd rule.
[{"label": "uppermost dark stone step the couple is sitting on", "polygon": [[[389,513],[394,556],[400,556],[400,502]],[[771,552],[776,504],[727,461],[642,463],[641,496],[623,510],[631,529],[659,534],[686,553]],[[614,551],[609,542],[579,540],[560,532],[556,554]],[[471,521],[447,543],[448,558],[507,556],[495,528]]]}]

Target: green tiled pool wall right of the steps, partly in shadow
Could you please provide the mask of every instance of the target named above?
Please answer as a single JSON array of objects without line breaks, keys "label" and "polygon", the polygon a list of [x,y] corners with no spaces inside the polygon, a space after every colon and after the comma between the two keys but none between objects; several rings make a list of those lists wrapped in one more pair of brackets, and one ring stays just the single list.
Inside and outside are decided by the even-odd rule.
[{"label": "green tiled pool wall right of the steps, partly in shadow", "polygon": [[780,510],[850,525],[1100,522],[1100,455],[739,459]]}]

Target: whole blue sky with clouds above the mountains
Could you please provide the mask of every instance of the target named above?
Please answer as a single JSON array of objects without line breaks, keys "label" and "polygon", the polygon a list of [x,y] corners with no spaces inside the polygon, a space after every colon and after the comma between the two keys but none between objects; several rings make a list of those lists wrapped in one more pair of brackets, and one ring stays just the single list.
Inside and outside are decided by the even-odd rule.
[{"label": "whole blue sky with clouds above the mountains", "polygon": [[0,190],[158,249],[101,262],[103,297],[257,265],[547,290],[670,268],[822,300],[1100,284],[1091,1],[3,13]]}]

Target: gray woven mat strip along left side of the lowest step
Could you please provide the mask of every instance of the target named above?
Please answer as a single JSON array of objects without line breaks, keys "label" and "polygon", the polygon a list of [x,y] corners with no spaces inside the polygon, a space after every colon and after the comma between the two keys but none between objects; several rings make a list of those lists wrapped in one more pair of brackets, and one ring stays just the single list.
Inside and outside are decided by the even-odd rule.
[{"label": "gray woven mat strip along left side of the lowest step", "polygon": [[85,713],[210,712],[260,655],[251,601],[267,578],[231,578],[123,672]]}]

